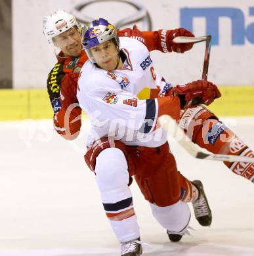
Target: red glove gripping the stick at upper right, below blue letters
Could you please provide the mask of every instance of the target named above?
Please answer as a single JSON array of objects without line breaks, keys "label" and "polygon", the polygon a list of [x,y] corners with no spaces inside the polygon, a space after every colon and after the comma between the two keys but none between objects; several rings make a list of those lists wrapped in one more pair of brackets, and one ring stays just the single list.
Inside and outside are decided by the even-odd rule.
[{"label": "red glove gripping the stick at upper right, below blue letters", "polygon": [[173,39],[178,36],[194,37],[192,32],[184,28],[177,28],[176,30],[159,30],[159,51],[164,53],[184,53],[192,49],[193,43],[174,43]]}]

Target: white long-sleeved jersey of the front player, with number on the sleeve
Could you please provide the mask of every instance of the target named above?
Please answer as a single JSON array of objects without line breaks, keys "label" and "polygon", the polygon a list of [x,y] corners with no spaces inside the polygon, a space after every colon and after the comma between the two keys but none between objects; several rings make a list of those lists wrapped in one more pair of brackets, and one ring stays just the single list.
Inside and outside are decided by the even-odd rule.
[{"label": "white long-sleeved jersey of the front player, with number on the sleeve", "polygon": [[77,99],[91,118],[92,138],[114,137],[127,145],[156,147],[164,144],[167,133],[156,129],[158,101],[138,100],[144,87],[161,85],[149,51],[140,41],[119,37],[123,68],[107,72],[89,60],[81,69]]}]

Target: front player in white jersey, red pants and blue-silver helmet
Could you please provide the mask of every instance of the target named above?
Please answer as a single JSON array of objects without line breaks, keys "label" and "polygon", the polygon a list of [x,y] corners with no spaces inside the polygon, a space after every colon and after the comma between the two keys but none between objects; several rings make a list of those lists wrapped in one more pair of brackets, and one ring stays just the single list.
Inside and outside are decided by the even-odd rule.
[{"label": "front player in white jersey, red pants and blue-silver helmet", "polygon": [[[133,208],[131,175],[156,220],[169,234],[182,235],[188,228],[190,210],[180,201],[180,178],[158,127],[159,116],[180,117],[178,96],[138,100],[145,86],[163,85],[154,72],[148,49],[135,39],[119,38],[114,26],[102,18],[83,33],[89,61],[81,69],[77,98],[91,117],[92,132],[85,160],[95,171],[106,215],[121,242],[121,255],[142,253],[137,217]],[[121,48],[120,48],[121,46]],[[196,86],[190,83],[190,88]],[[203,89],[216,89],[204,81]]]}]

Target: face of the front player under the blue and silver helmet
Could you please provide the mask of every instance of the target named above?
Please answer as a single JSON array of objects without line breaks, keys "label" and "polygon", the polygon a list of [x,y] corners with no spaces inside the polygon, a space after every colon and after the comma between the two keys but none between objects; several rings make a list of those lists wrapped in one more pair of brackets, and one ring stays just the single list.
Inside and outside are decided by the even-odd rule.
[{"label": "face of the front player under the blue and silver helmet", "polygon": [[91,53],[95,58],[96,64],[109,72],[112,72],[119,62],[117,47],[112,40],[91,48]]}]

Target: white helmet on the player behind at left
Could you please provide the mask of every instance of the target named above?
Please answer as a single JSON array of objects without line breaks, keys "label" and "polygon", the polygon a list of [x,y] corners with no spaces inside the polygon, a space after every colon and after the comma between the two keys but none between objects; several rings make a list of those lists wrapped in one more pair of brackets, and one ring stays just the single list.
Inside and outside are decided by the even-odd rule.
[{"label": "white helmet on the player behind at left", "polygon": [[58,10],[51,13],[50,16],[43,18],[43,33],[47,37],[49,43],[53,43],[53,37],[60,35],[60,33],[66,32],[70,28],[77,26],[77,30],[81,32],[81,26],[75,17],[64,11]]}]

